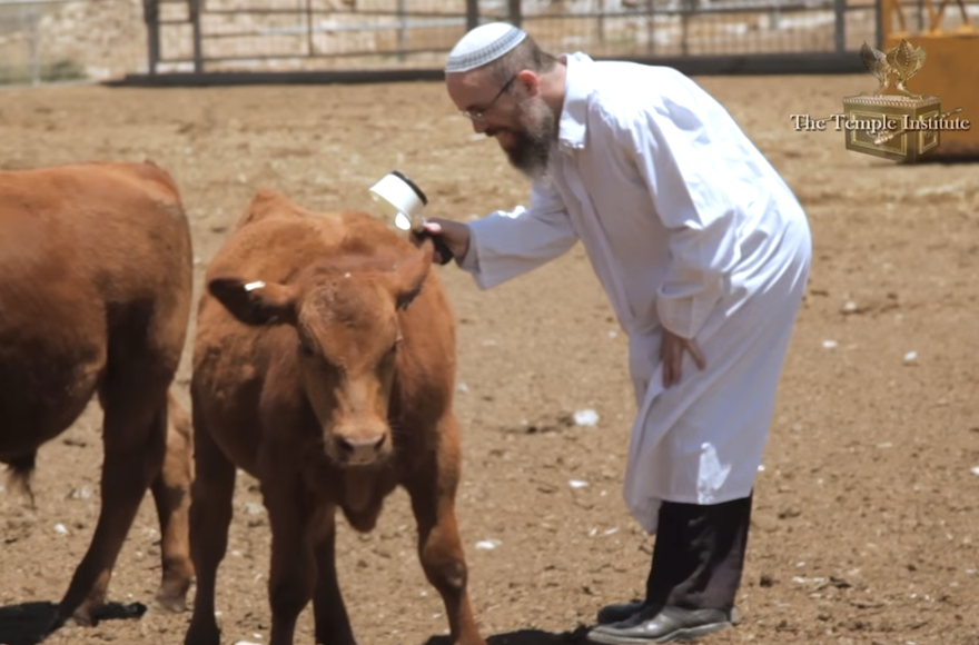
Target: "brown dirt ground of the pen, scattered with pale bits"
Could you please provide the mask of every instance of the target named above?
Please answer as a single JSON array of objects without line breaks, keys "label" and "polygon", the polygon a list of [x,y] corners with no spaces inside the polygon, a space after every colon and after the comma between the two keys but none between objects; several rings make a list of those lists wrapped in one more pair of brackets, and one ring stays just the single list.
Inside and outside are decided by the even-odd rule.
[{"label": "brown dirt ground of the pen, scattered with pale bits", "polygon": [[[792,129],[790,115],[838,112],[868,79],[699,79],[784,173],[814,237],[758,478],[744,618],[709,638],[718,645],[979,643],[979,166],[896,166],[844,150],[842,132]],[[462,220],[527,195],[438,83],[6,91],[0,141],[6,168],[151,158],[169,169],[192,218],[198,292],[259,187],[314,209],[373,209],[368,186],[398,168],[427,190],[431,215]],[[580,247],[491,291],[439,270],[458,321],[458,513],[482,632],[493,645],[583,643],[602,605],[641,594],[653,544],[621,497],[635,409],[625,339]],[[188,359],[175,386],[185,403]],[[565,423],[583,409],[596,425]],[[36,510],[0,493],[0,643],[18,642],[9,634],[32,604],[60,598],[88,546],[99,427],[93,405],[43,447]],[[260,644],[269,533],[246,476],[235,510],[219,572],[224,643]],[[147,496],[110,599],[151,604],[158,538]],[[362,644],[447,633],[414,545],[403,493],[373,534],[342,526],[340,585]],[[174,645],[189,616],[150,606],[48,642]],[[307,609],[297,643],[313,643],[312,627]]]}]

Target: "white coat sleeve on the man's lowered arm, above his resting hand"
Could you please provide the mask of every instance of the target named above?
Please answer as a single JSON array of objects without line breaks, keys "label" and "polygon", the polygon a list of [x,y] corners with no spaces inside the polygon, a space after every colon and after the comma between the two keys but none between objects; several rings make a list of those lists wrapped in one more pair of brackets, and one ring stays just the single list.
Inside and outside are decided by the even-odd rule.
[{"label": "white coat sleeve on the man's lowered arm, above his resting hand", "polygon": [[660,324],[694,338],[723,296],[725,275],[740,257],[735,205],[714,168],[703,125],[685,106],[666,115],[642,110],[620,132],[635,153],[656,212],[669,231],[670,265],[656,294]]}]

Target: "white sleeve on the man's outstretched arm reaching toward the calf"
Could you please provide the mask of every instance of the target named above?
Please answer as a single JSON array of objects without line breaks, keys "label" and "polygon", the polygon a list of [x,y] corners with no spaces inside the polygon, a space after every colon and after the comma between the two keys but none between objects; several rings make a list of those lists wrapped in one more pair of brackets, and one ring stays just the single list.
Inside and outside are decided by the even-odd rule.
[{"label": "white sleeve on the man's outstretched arm reaching toward the calf", "polygon": [[458,266],[481,289],[535,269],[577,241],[557,191],[534,183],[530,206],[497,210],[468,224],[469,250]]}]

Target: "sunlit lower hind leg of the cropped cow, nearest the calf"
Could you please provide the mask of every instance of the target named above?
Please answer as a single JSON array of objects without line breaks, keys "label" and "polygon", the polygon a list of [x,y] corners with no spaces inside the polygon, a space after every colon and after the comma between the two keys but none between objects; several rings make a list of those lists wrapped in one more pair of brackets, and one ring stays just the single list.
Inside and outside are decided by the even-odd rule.
[{"label": "sunlit lower hind leg of the cropped cow, nearest the calf", "polygon": [[160,522],[164,577],[157,603],[164,609],[186,609],[187,591],[194,578],[190,562],[189,515],[192,476],[191,429],[186,413],[171,400],[167,428],[167,454],[150,489]]}]

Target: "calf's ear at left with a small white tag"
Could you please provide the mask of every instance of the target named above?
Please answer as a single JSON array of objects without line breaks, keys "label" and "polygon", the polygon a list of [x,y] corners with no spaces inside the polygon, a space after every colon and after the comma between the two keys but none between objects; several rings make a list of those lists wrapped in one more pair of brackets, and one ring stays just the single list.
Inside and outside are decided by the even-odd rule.
[{"label": "calf's ear at left with a small white tag", "polygon": [[236,277],[211,279],[207,289],[246,325],[295,325],[298,290],[288,285],[245,282]]}]

